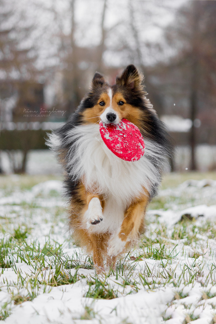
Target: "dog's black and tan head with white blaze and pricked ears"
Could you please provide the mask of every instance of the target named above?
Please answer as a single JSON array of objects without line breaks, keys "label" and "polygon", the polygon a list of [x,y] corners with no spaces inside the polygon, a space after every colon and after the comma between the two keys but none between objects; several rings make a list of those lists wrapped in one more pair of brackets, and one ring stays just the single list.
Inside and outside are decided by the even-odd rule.
[{"label": "dog's black and tan head with white blaze and pricked ears", "polygon": [[82,102],[83,121],[118,124],[126,118],[138,127],[142,127],[143,99],[145,90],[143,76],[134,65],[128,65],[116,84],[110,86],[103,75],[96,72],[91,84],[91,91]]}]

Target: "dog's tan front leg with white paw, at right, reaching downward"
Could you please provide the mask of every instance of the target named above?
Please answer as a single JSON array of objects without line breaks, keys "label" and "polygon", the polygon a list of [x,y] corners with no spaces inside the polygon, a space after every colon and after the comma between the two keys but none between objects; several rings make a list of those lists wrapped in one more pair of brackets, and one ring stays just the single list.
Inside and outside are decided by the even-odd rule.
[{"label": "dog's tan front leg with white paw, at right, reaching downward", "polygon": [[126,242],[136,237],[141,222],[145,216],[148,202],[149,196],[145,195],[142,199],[137,199],[137,201],[128,207],[124,214],[124,220],[121,224],[120,230],[118,230],[110,239],[108,255],[118,255],[124,249]]}]

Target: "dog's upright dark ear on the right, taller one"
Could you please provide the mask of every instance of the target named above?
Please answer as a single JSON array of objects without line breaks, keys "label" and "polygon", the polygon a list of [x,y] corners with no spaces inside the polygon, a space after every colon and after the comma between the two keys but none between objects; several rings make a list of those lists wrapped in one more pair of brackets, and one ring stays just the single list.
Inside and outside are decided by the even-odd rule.
[{"label": "dog's upright dark ear on the right, taller one", "polygon": [[138,72],[133,64],[130,64],[121,75],[116,77],[116,84],[118,86],[126,86],[134,90],[142,91],[142,79],[143,75]]}]

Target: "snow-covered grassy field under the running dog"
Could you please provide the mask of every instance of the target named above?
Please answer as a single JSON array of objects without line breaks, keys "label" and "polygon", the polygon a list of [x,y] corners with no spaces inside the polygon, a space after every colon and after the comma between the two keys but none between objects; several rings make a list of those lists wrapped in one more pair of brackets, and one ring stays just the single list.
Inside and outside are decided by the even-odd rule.
[{"label": "snow-covered grassy field under the running dog", "polygon": [[216,323],[216,174],[204,177],[168,175],[140,246],[99,276],[64,231],[61,178],[0,177],[0,320]]}]

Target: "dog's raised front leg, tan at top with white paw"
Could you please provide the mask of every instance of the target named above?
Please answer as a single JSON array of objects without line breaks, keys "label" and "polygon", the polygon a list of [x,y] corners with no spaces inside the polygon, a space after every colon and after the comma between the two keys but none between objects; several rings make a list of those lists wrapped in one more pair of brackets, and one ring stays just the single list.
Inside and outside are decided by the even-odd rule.
[{"label": "dog's raised front leg, tan at top with white paw", "polygon": [[84,214],[84,219],[87,228],[89,228],[91,225],[96,225],[103,220],[104,202],[99,196],[87,193],[86,204],[88,209]]}]

